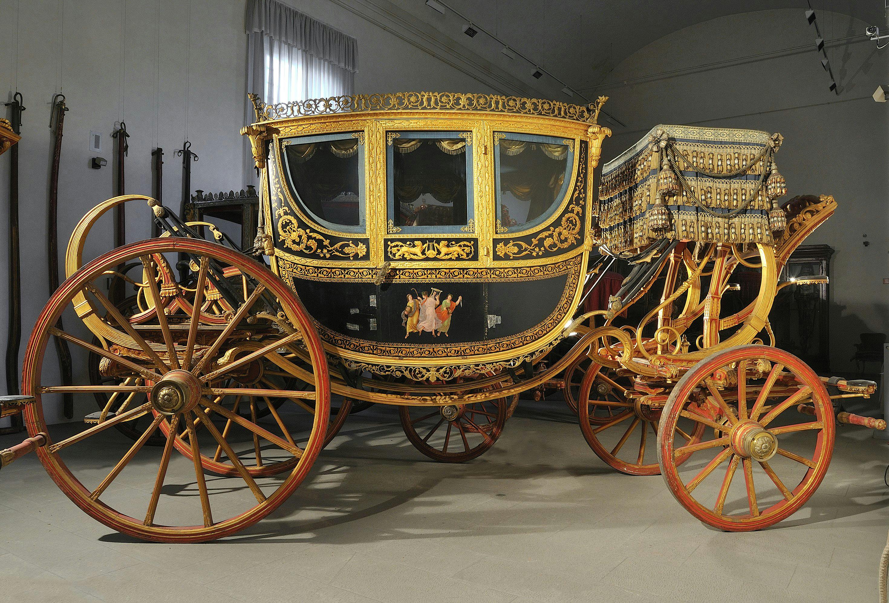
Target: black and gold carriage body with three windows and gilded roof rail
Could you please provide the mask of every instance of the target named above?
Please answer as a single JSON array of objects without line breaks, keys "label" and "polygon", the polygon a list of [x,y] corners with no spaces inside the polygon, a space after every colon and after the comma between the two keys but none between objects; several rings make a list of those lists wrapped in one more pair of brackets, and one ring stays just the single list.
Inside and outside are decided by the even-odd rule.
[{"label": "black and gold carriage body with three windows and gilded roof rail", "polygon": [[600,104],[436,93],[257,104],[246,130],[260,149],[264,246],[328,352],[423,380],[549,349],[593,247]]}]

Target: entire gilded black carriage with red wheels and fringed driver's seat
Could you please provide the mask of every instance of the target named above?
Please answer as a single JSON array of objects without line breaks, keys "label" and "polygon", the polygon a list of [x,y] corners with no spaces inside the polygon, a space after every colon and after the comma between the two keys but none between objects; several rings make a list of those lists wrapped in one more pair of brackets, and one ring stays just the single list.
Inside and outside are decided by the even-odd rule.
[{"label": "entire gilded black carriage with red wheels and fringed driver's seat", "polygon": [[[519,394],[562,385],[600,458],[661,473],[688,511],[727,530],[797,511],[827,470],[836,422],[885,429],[842,409],[872,382],[818,377],[774,347],[775,293],[824,280],[779,283],[781,270],[837,207],[779,205],[780,135],[657,126],[605,165],[596,197],[605,98],[252,101],[253,249],[149,197],[98,205],[28,343],[25,395],[4,402],[24,406],[29,433],[4,465],[36,450],[108,527],[163,542],[249,527],[371,403],[398,406],[423,454],[462,462],[493,446]],[[164,235],[84,265],[92,226],[130,201],[147,202]],[[632,271],[607,308],[584,312],[615,258]],[[732,281],[741,271],[755,275],[747,291]],[[109,297],[115,279],[123,299]],[[629,323],[646,295],[654,309]],[[44,370],[51,337],[87,358],[78,384]],[[44,422],[64,392],[84,410],[73,435]],[[95,438],[110,427],[125,446]],[[66,464],[87,442],[114,459],[107,472]],[[152,454],[153,486],[121,500],[118,476]],[[173,475],[191,495],[171,502]]]}]

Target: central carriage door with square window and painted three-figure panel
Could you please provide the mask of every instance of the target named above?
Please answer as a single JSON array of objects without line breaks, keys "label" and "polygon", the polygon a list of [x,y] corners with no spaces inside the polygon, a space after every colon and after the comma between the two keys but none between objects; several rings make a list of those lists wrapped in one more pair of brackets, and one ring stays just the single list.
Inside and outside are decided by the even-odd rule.
[{"label": "central carriage door with square window and painted three-figure panel", "polygon": [[383,257],[406,278],[380,289],[385,339],[485,338],[485,285],[468,275],[480,265],[472,139],[469,129],[386,132]]}]

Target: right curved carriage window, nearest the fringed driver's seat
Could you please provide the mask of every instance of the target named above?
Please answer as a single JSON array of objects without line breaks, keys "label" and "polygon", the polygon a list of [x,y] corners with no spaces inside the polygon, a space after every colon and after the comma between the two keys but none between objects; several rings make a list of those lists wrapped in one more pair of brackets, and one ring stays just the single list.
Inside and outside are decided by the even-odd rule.
[{"label": "right curved carriage window, nearest the fringed driver's seat", "polygon": [[556,211],[573,169],[573,141],[494,133],[499,230],[531,228]]}]

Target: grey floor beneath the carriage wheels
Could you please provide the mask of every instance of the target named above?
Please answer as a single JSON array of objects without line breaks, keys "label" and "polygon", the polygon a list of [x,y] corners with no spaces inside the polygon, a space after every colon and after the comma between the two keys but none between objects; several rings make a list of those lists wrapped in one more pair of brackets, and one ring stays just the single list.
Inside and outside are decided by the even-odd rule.
[{"label": "grey floor beneath the carriage wheels", "polygon": [[[114,430],[108,438],[128,446]],[[600,462],[561,403],[523,402],[497,445],[464,465],[428,461],[391,408],[373,408],[349,418],[268,519],[185,545],[138,543],[96,523],[32,456],[0,473],[0,600],[876,600],[887,452],[869,430],[841,428],[802,511],[727,534],[681,509],[660,477]],[[77,454],[98,462],[90,446]],[[155,471],[137,457],[119,479],[136,492]]]}]

